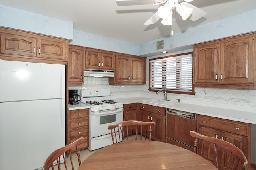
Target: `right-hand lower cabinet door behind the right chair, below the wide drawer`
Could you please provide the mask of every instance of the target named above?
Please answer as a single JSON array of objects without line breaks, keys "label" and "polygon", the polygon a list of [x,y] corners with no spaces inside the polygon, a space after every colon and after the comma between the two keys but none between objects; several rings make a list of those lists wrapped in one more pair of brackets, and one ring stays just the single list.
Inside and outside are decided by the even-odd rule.
[{"label": "right-hand lower cabinet door behind the right chair, below the wide drawer", "polygon": [[[232,143],[234,145],[236,145],[240,150],[242,150],[242,152],[244,153],[245,157],[248,159],[248,137],[243,137],[241,135],[235,135],[232,133],[227,133],[227,132],[221,132],[220,133],[220,139],[223,139],[225,141],[228,141],[229,143]],[[220,150],[220,156],[222,155],[223,150]],[[227,152],[226,155],[224,156],[224,167],[223,170],[226,168],[227,166],[227,161],[228,161],[228,157],[229,157],[230,152]],[[234,155],[233,155],[234,157]],[[232,158],[231,160],[235,160],[234,158]],[[232,165],[233,165],[233,161],[230,162],[228,169],[231,170],[232,169]]]}]

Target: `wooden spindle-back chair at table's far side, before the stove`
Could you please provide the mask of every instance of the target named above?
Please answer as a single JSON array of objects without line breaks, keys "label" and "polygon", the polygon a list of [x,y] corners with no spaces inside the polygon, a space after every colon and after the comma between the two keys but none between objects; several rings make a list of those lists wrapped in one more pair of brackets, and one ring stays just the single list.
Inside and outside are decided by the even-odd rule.
[{"label": "wooden spindle-back chair at table's far side, before the stove", "polygon": [[[155,124],[156,123],[154,121],[144,122],[137,120],[128,120],[116,123],[115,125],[109,125],[108,129],[110,129],[111,131],[112,141],[114,144],[121,141],[129,140],[151,140],[151,126],[154,126]],[[133,135],[135,135],[135,137],[133,137]],[[142,136],[144,137],[142,138]]]}]

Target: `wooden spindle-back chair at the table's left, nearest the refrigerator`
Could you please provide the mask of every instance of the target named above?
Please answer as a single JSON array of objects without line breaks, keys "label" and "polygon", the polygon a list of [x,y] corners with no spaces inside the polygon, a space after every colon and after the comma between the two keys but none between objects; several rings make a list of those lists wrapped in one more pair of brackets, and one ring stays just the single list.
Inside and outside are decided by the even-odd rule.
[{"label": "wooden spindle-back chair at the table's left, nearest the refrigerator", "polygon": [[52,165],[53,162],[56,160],[57,161],[57,164],[58,165],[58,170],[60,170],[60,160],[61,158],[64,159],[64,166],[65,166],[65,169],[68,170],[69,167],[67,167],[67,161],[66,158],[65,158],[65,152],[68,152],[68,154],[70,155],[70,163],[71,163],[71,167],[72,167],[72,170],[74,170],[74,165],[73,165],[73,160],[72,160],[72,154],[71,154],[71,149],[76,147],[76,155],[78,157],[78,163],[79,163],[79,166],[81,164],[81,159],[80,159],[80,150],[78,149],[78,145],[80,145],[81,143],[84,142],[84,138],[83,137],[80,137],[79,139],[77,139],[76,141],[74,141],[73,143],[70,143],[64,147],[61,147],[57,150],[55,150],[54,152],[52,152],[48,158],[46,159],[46,161],[44,162],[44,166],[43,166],[43,170],[49,170],[50,167],[52,167],[52,170],[54,170],[54,166]]}]

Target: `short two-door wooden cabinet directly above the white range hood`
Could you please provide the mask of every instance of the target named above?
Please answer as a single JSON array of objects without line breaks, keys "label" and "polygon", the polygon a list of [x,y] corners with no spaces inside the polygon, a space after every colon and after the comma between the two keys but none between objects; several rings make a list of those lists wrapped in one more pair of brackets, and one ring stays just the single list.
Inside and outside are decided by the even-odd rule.
[{"label": "short two-door wooden cabinet directly above the white range hood", "polygon": [[114,53],[86,48],[84,66],[86,69],[114,70]]}]

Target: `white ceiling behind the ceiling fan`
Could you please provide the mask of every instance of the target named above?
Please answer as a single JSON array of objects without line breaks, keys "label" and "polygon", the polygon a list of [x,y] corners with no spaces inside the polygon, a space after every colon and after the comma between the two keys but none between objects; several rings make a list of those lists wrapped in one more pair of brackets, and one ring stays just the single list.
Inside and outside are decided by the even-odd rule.
[{"label": "white ceiling behind the ceiling fan", "polygon": [[[256,9],[256,0],[194,0],[192,5],[208,14],[197,21],[182,21],[176,13],[172,26],[160,20],[143,25],[159,6],[117,6],[116,0],[0,0],[0,4],[74,23],[74,29],[112,39],[142,44]],[[242,23],[238,23],[242,24]]]}]

